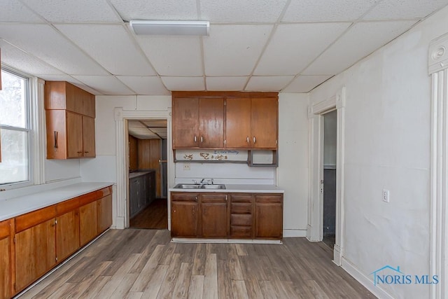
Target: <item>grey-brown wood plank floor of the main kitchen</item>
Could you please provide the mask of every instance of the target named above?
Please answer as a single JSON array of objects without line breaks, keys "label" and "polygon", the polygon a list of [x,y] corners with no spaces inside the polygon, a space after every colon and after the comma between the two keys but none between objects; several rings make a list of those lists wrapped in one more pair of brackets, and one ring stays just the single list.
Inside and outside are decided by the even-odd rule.
[{"label": "grey-brown wood plank floor of the main kitchen", "polygon": [[323,243],[170,243],[168,230],[109,230],[22,298],[375,298]]}]

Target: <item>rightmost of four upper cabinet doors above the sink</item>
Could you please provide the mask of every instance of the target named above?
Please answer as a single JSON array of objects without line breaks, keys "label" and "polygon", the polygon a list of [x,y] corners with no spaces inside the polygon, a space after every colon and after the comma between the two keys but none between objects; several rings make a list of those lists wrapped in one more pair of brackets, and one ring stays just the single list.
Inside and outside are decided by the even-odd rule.
[{"label": "rightmost of four upper cabinet doors above the sink", "polygon": [[251,107],[252,148],[277,147],[277,99],[252,98]]}]

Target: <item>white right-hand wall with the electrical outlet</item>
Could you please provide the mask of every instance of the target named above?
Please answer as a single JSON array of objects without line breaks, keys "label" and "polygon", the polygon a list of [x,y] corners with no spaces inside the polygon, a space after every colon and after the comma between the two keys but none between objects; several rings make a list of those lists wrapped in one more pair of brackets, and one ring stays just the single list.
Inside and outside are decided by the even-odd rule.
[{"label": "white right-hand wall with the electrical outlet", "polygon": [[[447,20],[444,8],[310,94],[316,104],[346,86],[344,259],[370,280],[384,265],[430,274],[428,44]],[[376,287],[393,298],[428,298],[430,288]]]}]

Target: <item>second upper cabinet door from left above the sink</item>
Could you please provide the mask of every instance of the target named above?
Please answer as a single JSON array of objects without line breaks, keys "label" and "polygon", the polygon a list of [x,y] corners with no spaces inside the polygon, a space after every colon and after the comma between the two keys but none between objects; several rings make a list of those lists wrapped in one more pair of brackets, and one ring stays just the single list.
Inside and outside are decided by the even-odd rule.
[{"label": "second upper cabinet door from left above the sink", "polygon": [[200,137],[202,148],[224,146],[224,99],[201,98],[199,105]]}]

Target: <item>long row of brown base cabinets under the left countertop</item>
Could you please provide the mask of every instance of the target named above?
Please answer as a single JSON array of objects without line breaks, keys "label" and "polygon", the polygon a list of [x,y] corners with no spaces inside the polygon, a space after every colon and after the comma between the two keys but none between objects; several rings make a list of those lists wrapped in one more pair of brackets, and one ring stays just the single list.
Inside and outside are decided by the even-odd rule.
[{"label": "long row of brown base cabinets under the left countertop", "polygon": [[0,299],[19,293],[109,228],[111,192],[103,188],[1,221]]}]

